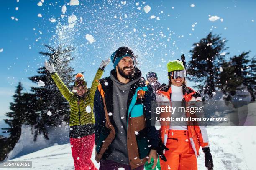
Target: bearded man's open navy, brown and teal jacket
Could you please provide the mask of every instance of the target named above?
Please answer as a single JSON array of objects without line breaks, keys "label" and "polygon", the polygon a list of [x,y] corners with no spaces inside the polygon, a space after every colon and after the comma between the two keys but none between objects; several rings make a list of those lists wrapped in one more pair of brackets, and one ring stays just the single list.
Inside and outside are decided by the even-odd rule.
[{"label": "bearded man's open navy, brown and teal jacket", "polygon": [[[138,70],[139,71],[139,70]],[[113,70],[111,71],[113,72]],[[139,71],[140,72],[140,71]],[[117,127],[113,120],[113,81],[110,77],[99,80],[100,85],[95,92],[95,145],[99,162],[111,153],[110,145],[115,139]],[[143,165],[151,148],[156,148],[159,132],[151,126],[151,102],[156,96],[151,85],[141,78],[130,87],[127,101],[127,150],[129,164],[132,169]]]}]

